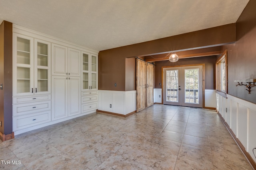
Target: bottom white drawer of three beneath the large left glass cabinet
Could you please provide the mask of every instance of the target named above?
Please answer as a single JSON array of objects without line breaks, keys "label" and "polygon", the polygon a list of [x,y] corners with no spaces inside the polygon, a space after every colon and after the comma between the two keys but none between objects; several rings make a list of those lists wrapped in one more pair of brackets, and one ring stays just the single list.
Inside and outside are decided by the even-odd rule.
[{"label": "bottom white drawer of three beneath the large left glass cabinet", "polygon": [[51,111],[13,117],[14,131],[51,121]]}]

